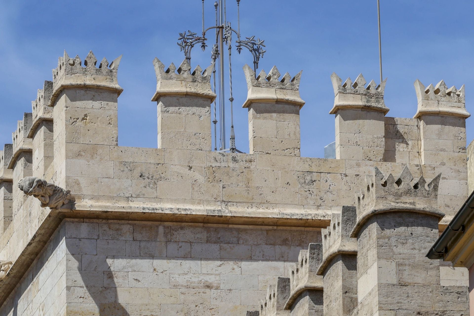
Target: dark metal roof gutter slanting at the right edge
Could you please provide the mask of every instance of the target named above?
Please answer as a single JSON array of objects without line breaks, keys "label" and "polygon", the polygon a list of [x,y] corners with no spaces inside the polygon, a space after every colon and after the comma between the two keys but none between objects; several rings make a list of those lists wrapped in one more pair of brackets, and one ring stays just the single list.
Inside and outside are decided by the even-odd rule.
[{"label": "dark metal roof gutter slanting at the right edge", "polygon": [[443,234],[439,236],[436,243],[431,247],[427,253],[429,259],[443,259],[444,255],[448,253],[450,247],[455,243],[457,238],[464,234],[465,227],[471,220],[474,214],[474,191],[465,201],[463,206],[459,209],[453,217],[449,225],[444,230]]}]

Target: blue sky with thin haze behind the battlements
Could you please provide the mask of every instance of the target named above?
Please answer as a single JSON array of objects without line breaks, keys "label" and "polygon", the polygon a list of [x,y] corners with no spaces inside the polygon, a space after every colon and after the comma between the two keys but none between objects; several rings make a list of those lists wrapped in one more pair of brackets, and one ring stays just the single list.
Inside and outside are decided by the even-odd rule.
[{"label": "blue sky with thin haze behind the battlements", "polygon": [[[214,19],[213,0],[205,0],[206,24]],[[260,69],[276,65],[282,74],[303,70],[301,155],[322,157],[334,141],[334,101],[329,76],[343,81],[362,72],[379,80],[376,0],[303,1],[241,0],[241,34],[265,40]],[[237,21],[235,0],[228,0],[228,19]],[[417,99],[413,82],[428,86],[444,80],[448,87],[466,85],[466,108],[474,114],[472,1],[381,0],[383,77],[388,77],[387,116],[412,117]],[[211,22],[211,23],[209,23]],[[156,147],[156,103],[150,99],[156,79],[152,60],[180,64],[178,33],[201,29],[201,0],[172,1],[13,1],[0,10],[0,144],[11,132],[64,49],[82,60],[92,50],[112,61],[123,54],[118,82],[119,145]],[[210,43],[211,44],[211,43]],[[209,65],[210,51],[193,52],[193,66]],[[248,152],[247,110],[242,66],[250,53],[233,54],[234,120],[237,147]],[[468,143],[474,118],[466,121]]]}]

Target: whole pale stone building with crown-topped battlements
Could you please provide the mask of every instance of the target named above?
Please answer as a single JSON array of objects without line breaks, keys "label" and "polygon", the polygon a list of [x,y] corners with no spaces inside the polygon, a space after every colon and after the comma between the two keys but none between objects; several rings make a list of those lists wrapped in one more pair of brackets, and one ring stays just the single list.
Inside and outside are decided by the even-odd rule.
[{"label": "whole pale stone building with crown-topped battlements", "polygon": [[301,73],[246,66],[249,153],[218,153],[213,65],[155,59],[135,148],[119,62],[64,53],[0,152],[0,316],[469,314],[467,269],[425,257],[474,179],[464,86],[388,117],[385,81],[333,74],[336,159],[309,158]]}]

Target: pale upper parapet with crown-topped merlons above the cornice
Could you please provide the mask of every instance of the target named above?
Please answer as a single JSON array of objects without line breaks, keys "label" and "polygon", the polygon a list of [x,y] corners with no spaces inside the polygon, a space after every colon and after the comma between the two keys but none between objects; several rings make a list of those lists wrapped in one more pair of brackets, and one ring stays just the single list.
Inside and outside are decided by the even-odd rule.
[{"label": "pale upper parapet with crown-topped merlons above the cornice", "polygon": [[[6,179],[0,190],[2,183],[13,189],[0,195],[0,259],[14,264],[0,281],[7,289],[0,303],[64,217],[319,230],[342,206],[355,205],[354,194],[374,167],[401,173],[405,165],[428,182],[442,173],[441,229],[468,195],[464,89],[438,85],[431,93],[417,81],[417,93],[426,96],[420,94],[418,110],[413,101],[416,118],[385,117],[385,81],[365,87],[362,75],[342,83],[333,74],[337,159],[321,159],[300,157],[301,73],[293,79],[279,79],[276,67],[256,78],[247,73],[250,153],[217,153],[211,151],[208,115],[215,98],[212,65],[201,74],[201,67],[191,73],[182,63],[176,73],[156,59],[157,89],[150,94],[158,105],[159,148],[123,147],[117,145],[119,60],[97,66],[89,53],[84,67],[79,57],[64,53],[53,81],[36,94],[33,113],[18,122],[13,144],[5,147],[12,149],[3,152],[9,162],[0,164],[0,179]],[[427,98],[443,110],[427,109]],[[27,176],[70,190],[75,203],[41,208],[17,187]]]}]

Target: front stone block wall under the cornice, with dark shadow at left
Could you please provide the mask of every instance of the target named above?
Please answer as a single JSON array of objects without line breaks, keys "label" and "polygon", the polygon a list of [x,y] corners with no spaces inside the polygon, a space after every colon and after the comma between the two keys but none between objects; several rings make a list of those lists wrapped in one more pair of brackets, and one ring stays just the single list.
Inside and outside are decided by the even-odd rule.
[{"label": "front stone block wall under the cornice, with dark shadow at left", "polygon": [[65,235],[67,315],[127,316],[245,316],[321,239],[317,230],[104,220],[67,220]]}]

